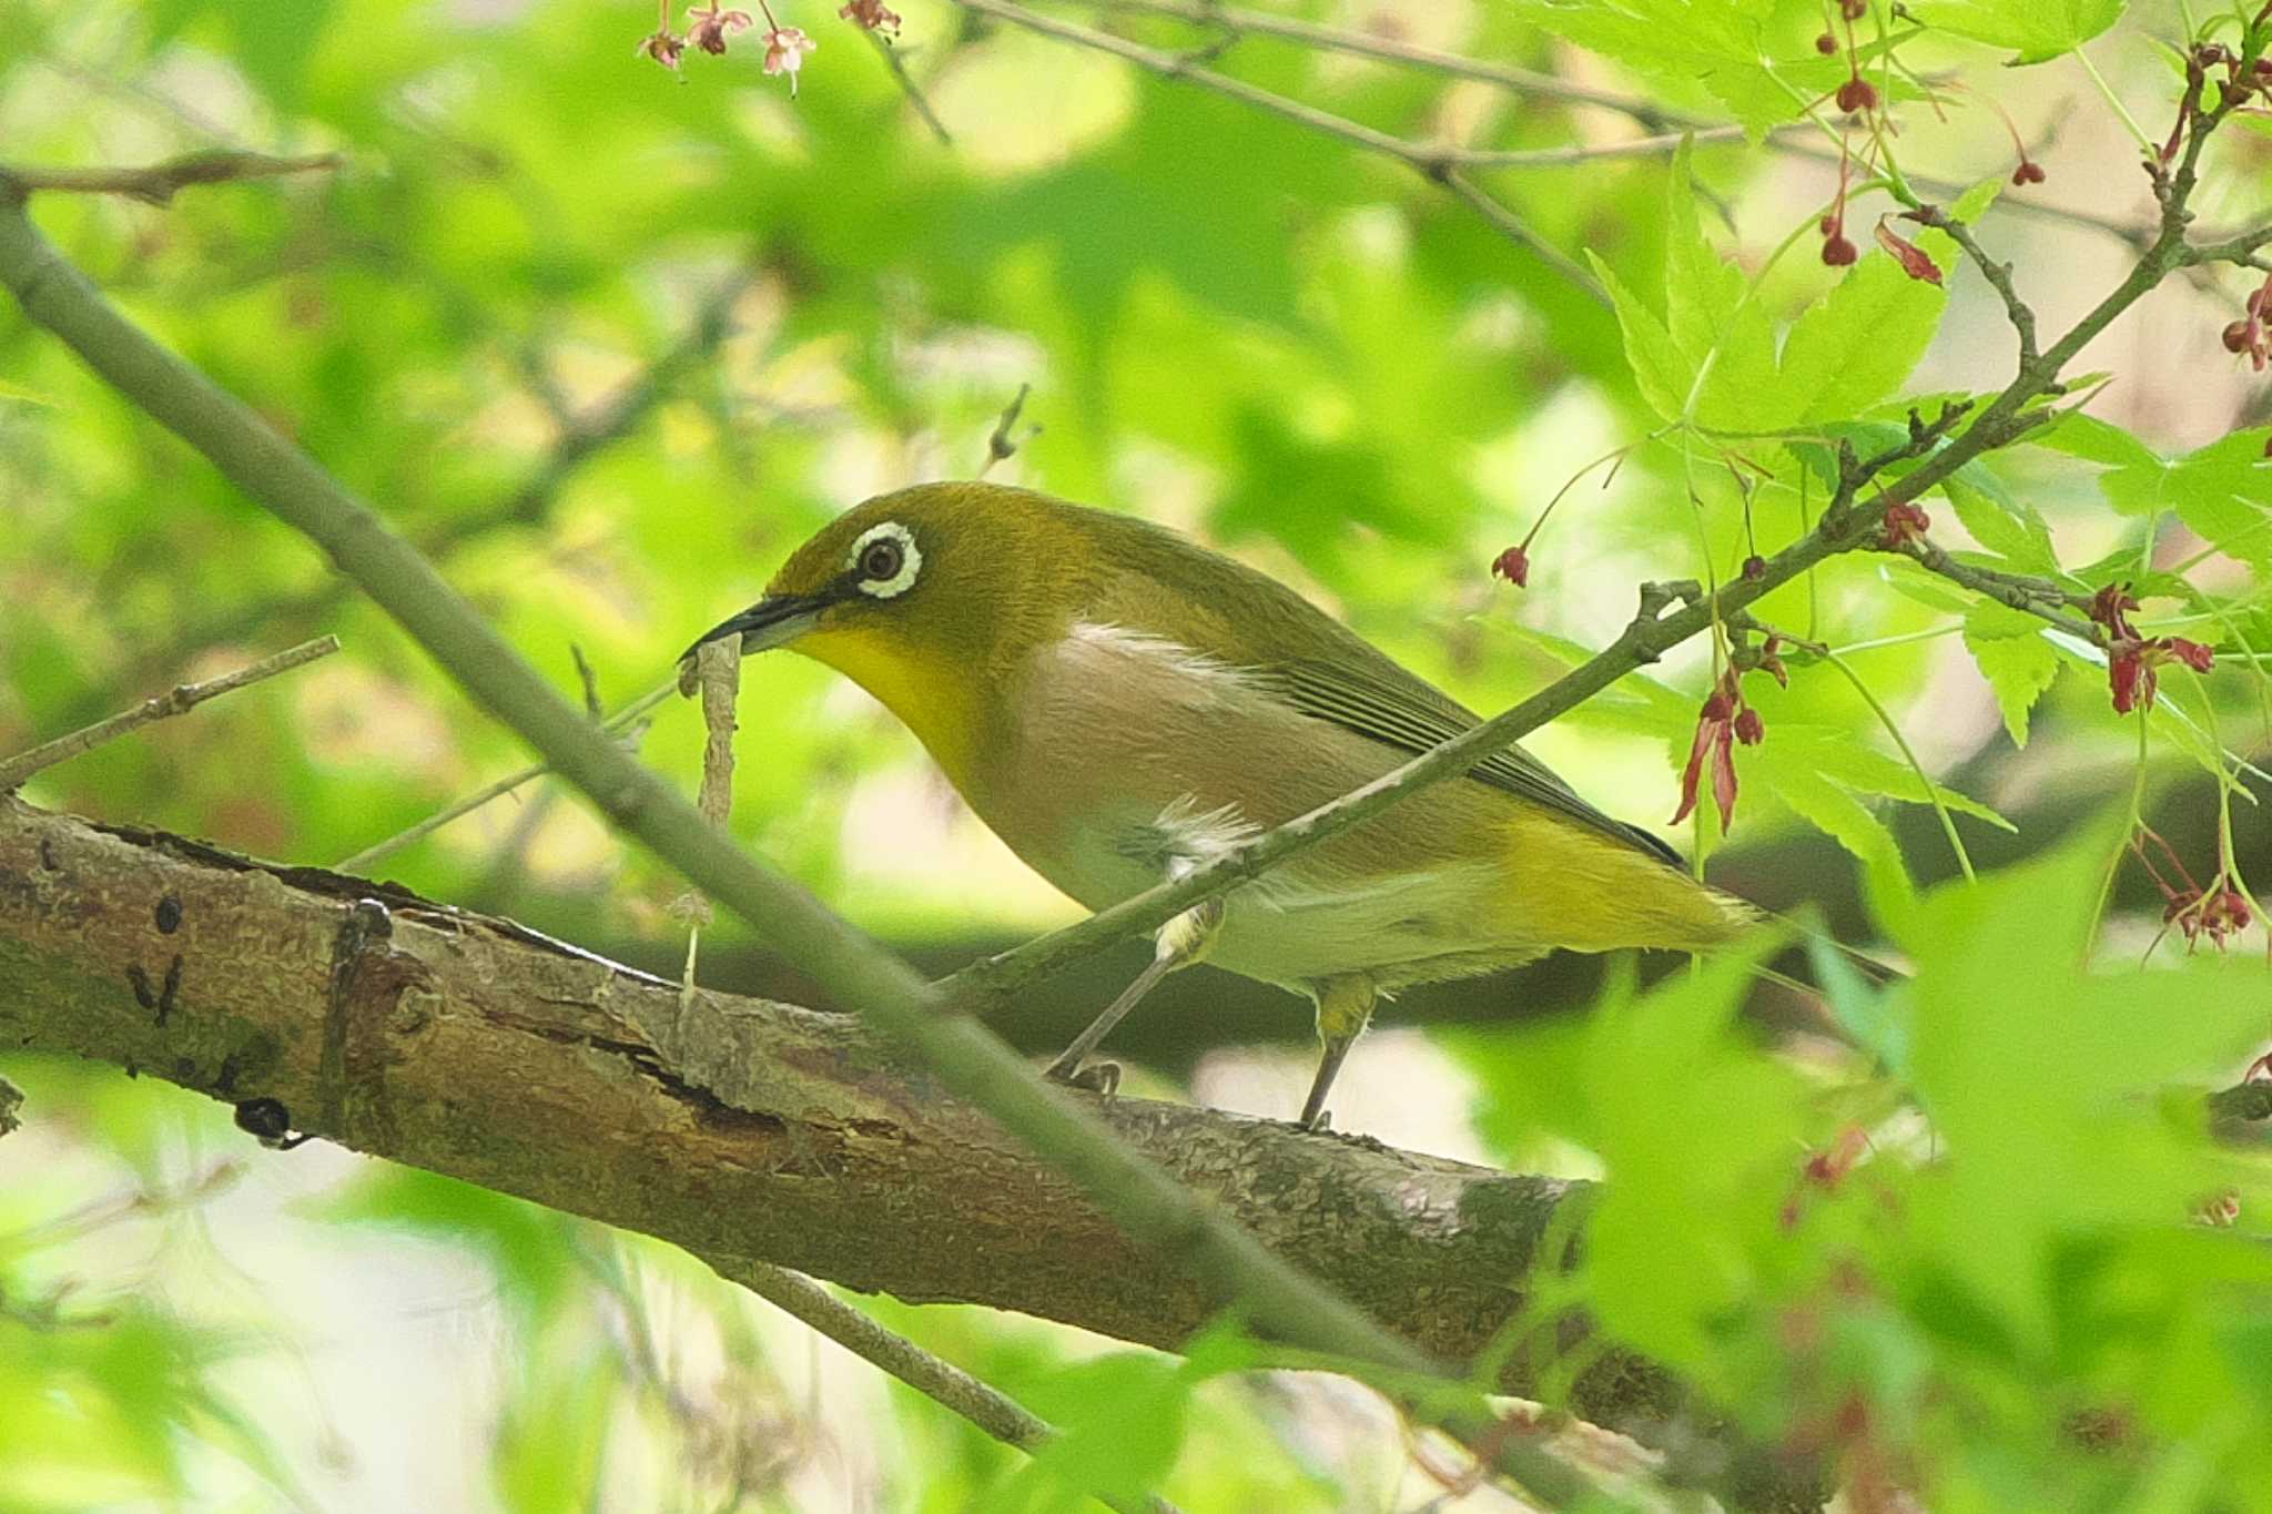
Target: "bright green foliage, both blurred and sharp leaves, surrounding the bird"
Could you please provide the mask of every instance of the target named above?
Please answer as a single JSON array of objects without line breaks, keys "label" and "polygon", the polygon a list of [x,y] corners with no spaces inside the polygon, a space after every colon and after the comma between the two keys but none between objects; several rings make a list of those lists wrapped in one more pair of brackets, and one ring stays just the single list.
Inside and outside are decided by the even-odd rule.
[{"label": "bright green foliage, both blurred and sharp leaves, surrounding the bird", "polygon": [[[607,706],[659,683],[836,508],[975,472],[1020,384],[1038,429],[993,477],[1186,527],[1497,708],[1613,636],[1638,581],[1727,581],[1795,540],[1838,443],[1886,445],[1911,404],[2011,377],[2002,311],[1954,243],[1918,234],[1943,279],[1911,277],[1865,236],[1890,202],[1856,175],[1847,209],[1834,166],[1715,141],[1486,175],[1536,236],[1588,254],[1604,306],[1388,159],[945,0],[902,9],[897,59],[952,143],[829,0],[777,7],[820,41],[795,100],[750,39],[684,73],[634,59],[654,18],[629,0],[0,0],[0,143],[57,166],[339,150],[336,173],[166,209],[45,195],[36,213],[139,320],[427,542],[563,688],[579,649]],[[1477,148],[1677,113],[1756,138],[1820,118],[1865,68],[1902,116],[1902,168],[1949,182],[1952,213],[2020,263],[2047,316],[2111,284],[2102,232],[2022,216],[2104,209],[2102,184],[2136,175],[2120,132],[2049,152],[2033,191],[2006,182],[2004,127],[1979,102],[2031,141],[2065,123],[2058,98],[2093,75],[2052,68],[2074,68],[2118,0],[1877,2],[1829,54],[1811,0],[1284,9],[1638,102],[1620,116],[1261,36],[1204,57]],[[1209,41],[1147,14],[1111,25]],[[2156,9],[2095,41],[2154,132],[2174,86],[2145,36],[2179,25]],[[2222,14],[2199,25],[2236,41]],[[2058,61],[2002,68],[2013,57]],[[1824,132],[1797,145],[1861,150]],[[1852,270],[1815,256],[1838,211],[1872,247]],[[2261,213],[2261,154],[2217,159],[2204,218]],[[707,309],[729,316],[716,340]],[[1734,840],[1834,838],[1915,978],[1872,987],[1818,951],[1858,1053],[1759,1046],[1738,960],[1613,987],[1586,1019],[1461,1035],[1490,1151],[1609,1178],[1584,1262],[1529,1280],[1522,1330],[1584,1307],[1759,1437],[1933,1509],[2267,1507],[2272,1194],[2183,1092],[2231,1078],[2267,1031],[2256,937],[2186,956],[2183,910],[2102,919],[2108,876],[2138,867],[2118,824],[2136,801],[1940,890],[1913,881],[1890,824],[1929,806],[1936,847],[1963,849],[2008,826],[2013,794],[2204,772],[2231,835],[2272,731],[2263,404],[2204,368],[2238,309],[2240,284],[2172,291],[2147,331],[2179,347],[2174,368],[2152,340],[2111,352],[2136,370],[2077,381],[2090,413],[2074,404],[1929,502],[1968,563],[2079,597],[2129,583],[2140,631],[2213,645],[2215,672],[2165,667],[2154,708],[2120,717],[2104,651],[1874,554],[1759,606],[1834,656],[1786,649],[1788,685],[1745,676],[1768,738],[1734,754]],[[618,413],[657,363],[652,404]],[[0,495],[0,749],[309,629],[348,642],[43,774],[34,801],[329,863],[523,760],[302,540],[14,318]],[[1495,586],[1486,565],[1552,499],[1529,588]],[[1713,656],[1624,679],[1534,745],[1606,808],[1668,815]],[[868,704],[791,661],[752,683],[734,826],[777,865],[882,931],[1063,912]],[[643,745],[688,785],[698,749],[679,706]],[[1718,831],[1699,806],[1695,844]],[[2238,853],[2156,865],[2172,894],[2247,888]],[[673,933],[677,883],[563,794],[495,806],[386,872],[568,935]],[[34,1124],[0,1142],[0,1509],[339,1507],[352,1482],[329,1480],[325,1414],[289,1373],[243,1371],[298,1357],[320,1376],[309,1348],[182,1282],[234,1255],[198,1217],[264,1158],[179,1094],[9,1067]],[[1188,1509],[1370,1509],[1431,1487],[1388,1410],[1259,1371],[1231,1330],[1177,1362],[877,1301],[1066,1428],[1027,1462],[904,1389],[800,1364],[795,1335],[659,1246],[427,1174],[336,1169],[309,1189],[289,1219],[268,1205],[268,1244],[370,1278],[445,1253],[479,1278],[495,1339],[450,1357],[495,1378],[448,1482],[466,1503],[1054,1509],[1156,1489]],[[2231,1205],[2238,1226],[2192,1219]]]}]

